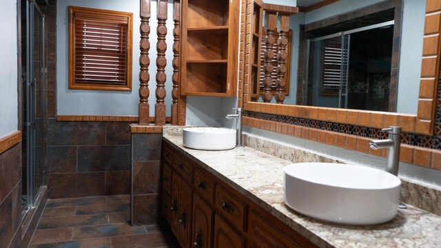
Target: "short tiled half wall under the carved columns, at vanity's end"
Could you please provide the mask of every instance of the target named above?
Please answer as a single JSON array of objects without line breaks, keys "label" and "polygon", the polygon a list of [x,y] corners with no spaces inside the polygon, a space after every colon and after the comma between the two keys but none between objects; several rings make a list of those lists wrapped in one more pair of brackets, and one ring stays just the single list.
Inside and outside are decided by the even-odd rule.
[{"label": "short tiled half wall under the carved columns, at vanity's end", "polygon": [[161,218],[162,134],[132,134],[132,225],[157,225]]}]

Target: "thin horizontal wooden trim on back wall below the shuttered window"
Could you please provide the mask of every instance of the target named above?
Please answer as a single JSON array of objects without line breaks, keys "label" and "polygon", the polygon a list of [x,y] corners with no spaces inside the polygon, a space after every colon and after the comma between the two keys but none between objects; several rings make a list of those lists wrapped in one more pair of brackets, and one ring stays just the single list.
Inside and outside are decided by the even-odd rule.
[{"label": "thin horizontal wooden trim on back wall below the shuttered window", "polygon": [[[170,123],[172,117],[165,117]],[[59,115],[57,121],[116,121],[116,122],[138,122],[138,116],[87,116],[87,115]],[[149,117],[150,123],[154,122],[154,116]],[[147,124],[148,125],[148,124]]]}]

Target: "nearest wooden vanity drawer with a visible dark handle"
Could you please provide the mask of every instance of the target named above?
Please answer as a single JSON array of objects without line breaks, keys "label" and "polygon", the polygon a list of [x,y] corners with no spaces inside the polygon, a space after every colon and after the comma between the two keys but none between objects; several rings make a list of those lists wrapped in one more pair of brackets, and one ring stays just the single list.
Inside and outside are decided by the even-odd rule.
[{"label": "nearest wooden vanity drawer with a visible dark handle", "polygon": [[242,203],[236,197],[227,193],[225,189],[216,185],[216,198],[214,205],[219,214],[229,220],[238,229],[244,228],[245,211],[247,205]]}]

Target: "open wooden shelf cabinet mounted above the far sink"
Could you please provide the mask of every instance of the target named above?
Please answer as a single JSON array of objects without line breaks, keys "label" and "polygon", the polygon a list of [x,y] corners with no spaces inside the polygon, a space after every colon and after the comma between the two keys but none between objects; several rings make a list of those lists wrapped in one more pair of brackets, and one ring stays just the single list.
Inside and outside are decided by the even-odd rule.
[{"label": "open wooden shelf cabinet mounted above the far sink", "polygon": [[182,95],[236,96],[239,4],[182,1]]}]

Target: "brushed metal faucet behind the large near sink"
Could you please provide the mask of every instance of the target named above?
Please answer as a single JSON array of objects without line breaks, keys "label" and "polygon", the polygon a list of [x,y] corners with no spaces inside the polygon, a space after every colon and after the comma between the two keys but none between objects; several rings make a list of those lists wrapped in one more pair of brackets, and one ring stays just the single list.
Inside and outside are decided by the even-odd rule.
[{"label": "brushed metal faucet behind the large near sink", "polygon": [[382,132],[388,132],[389,136],[385,140],[369,141],[372,149],[387,148],[387,167],[386,171],[398,176],[398,160],[400,158],[400,133],[401,127],[391,126],[383,128]]}]

